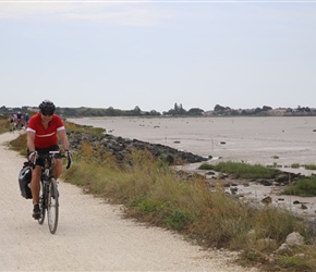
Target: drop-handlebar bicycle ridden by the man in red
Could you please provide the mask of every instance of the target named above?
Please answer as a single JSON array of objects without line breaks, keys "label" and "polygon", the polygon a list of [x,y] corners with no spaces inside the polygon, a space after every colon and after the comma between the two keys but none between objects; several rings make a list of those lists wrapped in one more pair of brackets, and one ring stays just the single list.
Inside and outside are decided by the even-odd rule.
[{"label": "drop-handlebar bicycle ridden by the man in red", "polygon": [[38,223],[41,225],[45,221],[45,215],[47,211],[47,221],[48,227],[51,234],[54,234],[58,226],[59,219],[59,191],[57,188],[57,181],[52,176],[52,165],[53,158],[61,159],[68,158],[66,169],[71,165],[71,157],[61,154],[60,151],[49,151],[47,154],[36,154],[34,165],[36,163],[36,159],[42,158],[45,163],[41,166],[41,175],[40,175],[40,196],[39,196],[39,209],[40,209],[40,218],[38,219]]}]

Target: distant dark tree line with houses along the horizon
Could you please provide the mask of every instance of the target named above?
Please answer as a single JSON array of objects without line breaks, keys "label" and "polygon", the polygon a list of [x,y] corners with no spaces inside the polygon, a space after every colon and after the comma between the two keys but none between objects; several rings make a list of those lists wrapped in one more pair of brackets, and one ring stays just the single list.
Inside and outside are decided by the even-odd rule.
[{"label": "distant dark tree line with houses along the horizon", "polygon": [[[0,114],[9,116],[12,113],[23,112],[28,114],[34,114],[38,111],[36,107],[26,107],[21,108],[7,108],[2,106],[0,108]],[[296,109],[291,108],[278,108],[272,109],[269,106],[264,106],[263,108],[254,109],[231,109],[230,107],[223,107],[216,104],[212,111],[204,111],[199,108],[192,108],[185,110],[182,103],[174,103],[174,107],[162,113],[151,110],[151,111],[142,111],[138,106],[132,110],[119,110],[112,107],[109,108],[57,108],[57,114],[62,115],[63,118],[89,118],[89,116],[200,116],[200,115],[216,115],[216,116],[226,116],[226,115],[316,115],[316,109],[311,109],[308,107],[297,106]]]}]

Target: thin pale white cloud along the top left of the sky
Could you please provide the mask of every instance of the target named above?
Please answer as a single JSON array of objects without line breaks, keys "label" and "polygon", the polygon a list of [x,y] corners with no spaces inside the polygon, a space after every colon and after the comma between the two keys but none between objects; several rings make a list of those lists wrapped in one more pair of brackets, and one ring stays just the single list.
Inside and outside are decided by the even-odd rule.
[{"label": "thin pale white cloud along the top left of the sky", "polygon": [[153,26],[168,18],[154,5],[125,2],[0,2],[3,20],[86,21],[117,25]]}]

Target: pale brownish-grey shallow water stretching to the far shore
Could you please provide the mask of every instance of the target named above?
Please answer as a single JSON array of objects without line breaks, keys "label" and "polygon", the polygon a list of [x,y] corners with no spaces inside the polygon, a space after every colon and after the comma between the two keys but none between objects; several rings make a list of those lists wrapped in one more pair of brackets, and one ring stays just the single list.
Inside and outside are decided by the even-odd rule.
[{"label": "pale brownish-grey shallow water stretching to the far shore", "polygon": [[203,157],[262,164],[316,163],[315,118],[69,119],[107,133],[167,145]]}]

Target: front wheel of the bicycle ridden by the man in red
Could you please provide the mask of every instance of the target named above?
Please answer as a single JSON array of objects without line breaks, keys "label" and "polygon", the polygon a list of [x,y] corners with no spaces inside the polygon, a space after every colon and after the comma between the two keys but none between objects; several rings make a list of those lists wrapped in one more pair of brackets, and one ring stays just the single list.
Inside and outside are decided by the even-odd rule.
[{"label": "front wheel of the bicycle ridden by the man in red", "polygon": [[57,189],[57,181],[51,177],[49,184],[48,202],[47,202],[47,220],[49,231],[54,234],[58,226],[59,215],[59,194]]}]

